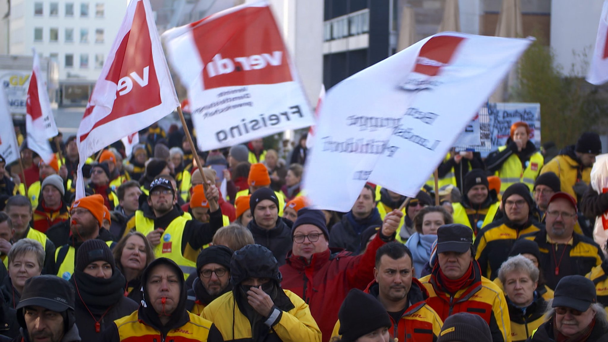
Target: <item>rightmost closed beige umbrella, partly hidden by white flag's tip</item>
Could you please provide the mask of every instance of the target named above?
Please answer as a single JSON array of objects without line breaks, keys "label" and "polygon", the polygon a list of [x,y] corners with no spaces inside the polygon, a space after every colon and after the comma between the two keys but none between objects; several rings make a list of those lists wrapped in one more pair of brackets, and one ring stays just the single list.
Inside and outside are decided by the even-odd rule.
[{"label": "rightmost closed beige umbrella, partly hidden by white flag's tip", "polygon": [[[498,24],[496,25],[496,37],[523,37],[522,22],[522,1],[502,0]],[[505,100],[505,92],[510,85],[513,85],[515,78],[515,72],[512,69],[506,80],[501,82],[496,91],[494,91],[494,94],[490,96],[490,102],[503,102]]]}]

